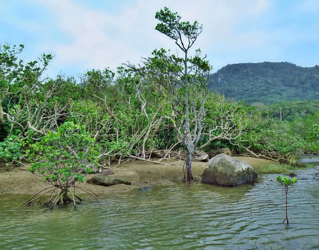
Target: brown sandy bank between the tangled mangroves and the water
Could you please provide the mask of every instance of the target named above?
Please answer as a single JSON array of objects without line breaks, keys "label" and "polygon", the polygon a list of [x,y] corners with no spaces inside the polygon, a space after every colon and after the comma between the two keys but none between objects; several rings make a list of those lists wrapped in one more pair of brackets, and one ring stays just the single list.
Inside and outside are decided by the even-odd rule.
[{"label": "brown sandy bank between the tangled mangroves and the water", "polygon": [[[257,159],[253,157],[234,156],[235,159],[246,162],[254,169],[258,170],[263,164],[273,164],[273,161],[265,159]],[[114,194],[118,192],[137,189],[145,186],[154,185],[170,185],[174,180],[182,180],[184,161],[164,160],[163,163],[174,165],[159,165],[152,164],[146,161],[127,162],[118,168],[111,169],[114,172],[112,177],[118,177],[132,182],[132,185],[117,184],[109,187],[89,184],[86,182],[80,183],[80,186],[92,190],[97,195]],[[204,168],[207,162],[194,161],[192,162],[192,173],[195,179],[201,180]],[[115,166],[115,165],[114,165]],[[92,175],[87,175],[86,179],[90,179]],[[41,177],[30,173],[28,170],[19,170],[13,168],[10,171],[0,172],[0,195],[20,194],[32,195],[41,189],[48,187]],[[77,193],[84,193],[78,190]]]}]

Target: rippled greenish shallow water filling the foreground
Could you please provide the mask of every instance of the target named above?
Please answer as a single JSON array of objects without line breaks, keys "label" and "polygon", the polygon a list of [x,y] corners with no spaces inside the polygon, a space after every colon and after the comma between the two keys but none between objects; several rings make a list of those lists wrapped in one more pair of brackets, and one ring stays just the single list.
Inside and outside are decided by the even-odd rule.
[{"label": "rippled greenish shallow water filling the foreground", "polygon": [[319,249],[317,172],[295,171],[289,226],[276,175],[234,188],[176,182],[88,199],[76,211],[21,210],[29,196],[0,196],[0,249]]}]

